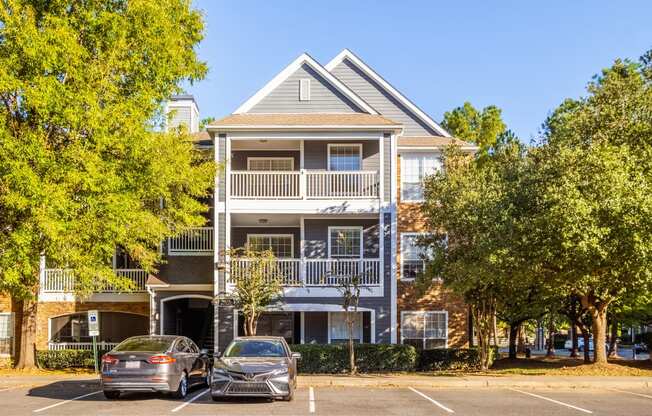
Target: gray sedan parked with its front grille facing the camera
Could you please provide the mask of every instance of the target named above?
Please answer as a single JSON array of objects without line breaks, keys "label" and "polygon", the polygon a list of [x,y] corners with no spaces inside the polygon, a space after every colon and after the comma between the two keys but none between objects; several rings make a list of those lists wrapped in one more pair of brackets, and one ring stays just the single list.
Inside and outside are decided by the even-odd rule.
[{"label": "gray sedan parked with its front grille facing the camera", "polygon": [[290,401],[297,386],[297,360],[281,337],[239,337],[213,363],[211,396],[254,396]]}]

